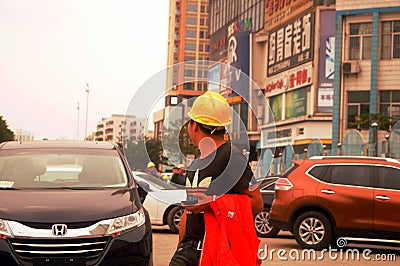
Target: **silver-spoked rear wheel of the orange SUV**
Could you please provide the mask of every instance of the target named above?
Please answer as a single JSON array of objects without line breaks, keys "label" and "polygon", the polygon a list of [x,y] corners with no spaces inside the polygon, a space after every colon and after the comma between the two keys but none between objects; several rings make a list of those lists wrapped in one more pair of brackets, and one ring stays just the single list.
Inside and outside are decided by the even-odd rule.
[{"label": "silver-spoked rear wheel of the orange SUV", "polygon": [[321,250],[333,240],[331,221],[320,212],[305,212],[294,223],[294,238],[302,248]]}]

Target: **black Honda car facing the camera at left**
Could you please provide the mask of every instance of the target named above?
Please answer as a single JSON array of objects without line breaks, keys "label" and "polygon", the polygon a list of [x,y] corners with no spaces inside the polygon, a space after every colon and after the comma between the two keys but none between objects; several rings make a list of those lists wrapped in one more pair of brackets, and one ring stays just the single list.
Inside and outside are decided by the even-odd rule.
[{"label": "black Honda car facing the camera at left", "polygon": [[0,265],[152,265],[150,219],[116,145],[0,144]]}]

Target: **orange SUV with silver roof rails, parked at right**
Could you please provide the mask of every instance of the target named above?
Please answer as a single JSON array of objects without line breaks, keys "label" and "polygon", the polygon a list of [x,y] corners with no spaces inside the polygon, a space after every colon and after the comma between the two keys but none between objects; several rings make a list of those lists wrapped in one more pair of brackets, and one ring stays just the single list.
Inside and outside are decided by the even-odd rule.
[{"label": "orange SUV with silver roof rails, parked at right", "polygon": [[303,248],[338,237],[400,239],[400,162],[375,157],[295,160],[275,184],[271,224]]}]

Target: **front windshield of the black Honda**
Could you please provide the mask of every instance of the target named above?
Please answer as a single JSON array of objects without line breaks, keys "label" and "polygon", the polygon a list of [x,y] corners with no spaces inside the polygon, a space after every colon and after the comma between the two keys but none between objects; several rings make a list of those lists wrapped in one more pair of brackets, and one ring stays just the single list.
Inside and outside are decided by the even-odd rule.
[{"label": "front windshield of the black Honda", "polygon": [[126,187],[115,150],[18,150],[0,156],[0,189]]}]

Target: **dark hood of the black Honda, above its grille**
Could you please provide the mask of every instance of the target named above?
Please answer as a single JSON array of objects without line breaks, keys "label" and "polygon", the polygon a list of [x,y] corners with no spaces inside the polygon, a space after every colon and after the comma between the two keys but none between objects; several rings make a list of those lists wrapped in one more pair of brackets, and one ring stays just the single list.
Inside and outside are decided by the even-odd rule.
[{"label": "dark hood of the black Honda, above its grille", "polygon": [[0,191],[0,219],[67,223],[98,221],[137,210],[128,189]]}]

